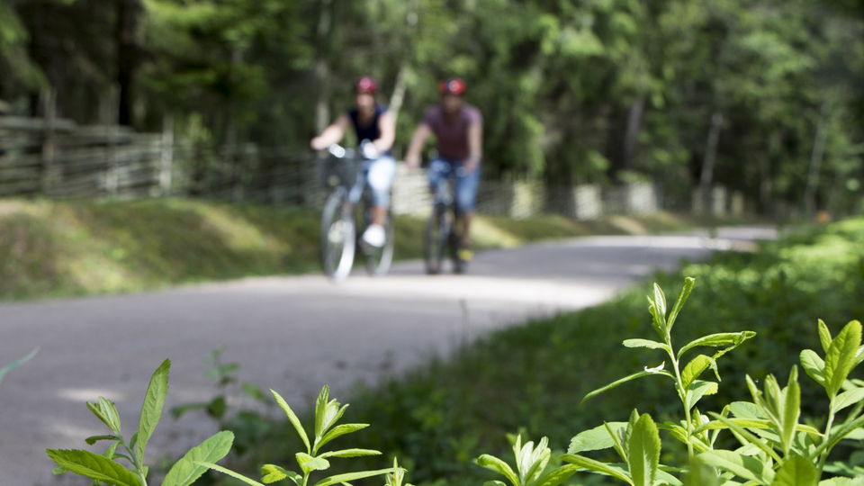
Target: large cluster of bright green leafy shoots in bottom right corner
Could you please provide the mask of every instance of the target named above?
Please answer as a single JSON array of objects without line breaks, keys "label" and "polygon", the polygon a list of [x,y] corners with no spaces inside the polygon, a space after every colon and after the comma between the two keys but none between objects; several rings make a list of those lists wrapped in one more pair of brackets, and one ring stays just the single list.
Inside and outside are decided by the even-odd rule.
[{"label": "large cluster of bright green leafy shoots in bottom right corner", "polygon": [[[824,473],[824,466],[833,448],[844,438],[860,438],[864,425],[864,382],[849,380],[849,374],[864,361],[861,347],[861,325],[850,322],[836,338],[832,338],[824,322],[819,322],[819,337],[825,357],[815,351],[801,353],[806,373],[819,383],[829,399],[828,418],[823,431],[800,423],[801,390],[797,382],[797,367],[793,366],[788,384],[781,388],[773,375],[765,379],[759,390],[750,376],[747,383],[752,401],[736,401],[720,413],[704,415],[696,405],[708,394],[717,392],[720,376],[716,360],[752,338],[751,331],[712,334],[697,338],[677,351],[672,346],[671,330],[679,312],[687,301],[694,281],[687,279],[678,301],[667,316],[666,300],[660,286],[654,286],[649,298],[652,326],[660,341],[626,339],[625,347],[646,347],[661,350],[671,362],[671,370],[664,365],[631,374],[588,393],[589,400],[645,376],[659,376],[673,383],[683,406],[684,418],[680,422],[664,422],[656,426],[650,415],[634,411],[626,423],[606,423],[573,437],[567,455],[562,459],[592,473],[612,476],[629,484],[682,484],[673,474],[685,474],[688,484],[745,484],[804,485],[816,484]],[[683,367],[683,356],[697,347],[716,347],[712,356],[698,355]],[[708,369],[714,371],[717,382],[699,380]],[[838,412],[851,407],[851,412],[840,425],[834,425]],[[710,416],[710,418],[709,418]],[[689,461],[686,466],[671,467],[660,464],[661,439],[659,430],[687,446]],[[718,436],[729,431],[740,447],[727,450],[716,447]],[[621,463],[606,463],[580,453],[613,448]],[[819,484],[852,484],[853,480],[832,478]],[[858,482],[854,482],[858,484]]]}]

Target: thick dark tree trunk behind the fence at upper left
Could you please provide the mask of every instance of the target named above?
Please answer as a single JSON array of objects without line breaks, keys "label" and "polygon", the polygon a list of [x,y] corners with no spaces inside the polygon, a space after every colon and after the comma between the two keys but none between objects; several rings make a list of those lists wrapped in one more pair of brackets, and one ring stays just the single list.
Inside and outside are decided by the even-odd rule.
[{"label": "thick dark tree trunk behind the fence at upper left", "polygon": [[134,121],[134,81],[138,67],[138,24],[141,13],[139,0],[117,0],[117,23],[114,41],[117,46],[117,86],[119,99],[117,122],[131,125]]}]

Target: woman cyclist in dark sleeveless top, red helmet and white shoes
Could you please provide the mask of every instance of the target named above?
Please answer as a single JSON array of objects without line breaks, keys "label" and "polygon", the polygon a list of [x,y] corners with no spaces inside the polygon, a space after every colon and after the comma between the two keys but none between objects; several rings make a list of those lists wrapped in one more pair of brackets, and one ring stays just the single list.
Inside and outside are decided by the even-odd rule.
[{"label": "woman cyclist in dark sleeveless top, red helmet and white shoes", "polygon": [[313,150],[328,148],[345,136],[349,125],[354,127],[365,158],[366,184],[372,190],[372,224],[366,228],[362,238],[368,245],[383,247],[390,188],[396,175],[396,161],[392,156],[396,127],[391,113],[375,100],[378,85],[372,77],[361,77],[354,87],[355,105],[340,114],[333,124],[311,140],[310,145]]}]

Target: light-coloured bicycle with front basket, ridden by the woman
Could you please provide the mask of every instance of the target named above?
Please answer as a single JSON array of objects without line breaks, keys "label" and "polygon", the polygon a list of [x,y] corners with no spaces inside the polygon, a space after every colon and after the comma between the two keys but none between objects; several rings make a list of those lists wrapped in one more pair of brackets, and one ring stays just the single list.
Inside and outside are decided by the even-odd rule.
[{"label": "light-coloured bicycle with front basket, ridden by the woman", "polygon": [[[366,184],[360,151],[331,145],[326,157],[324,179],[333,185],[321,213],[321,266],[331,280],[339,281],[351,273],[356,248],[360,247],[369,275],[384,275],[393,260],[393,218],[387,213],[382,247],[362,241],[361,235],[372,223],[372,194]],[[335,184],[334,184],[335,179]],[[357,229],[360,231],[357,231]]]}]

